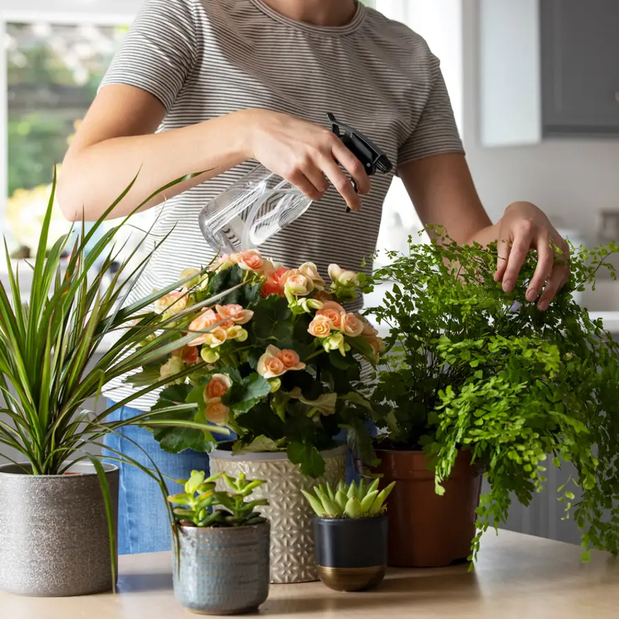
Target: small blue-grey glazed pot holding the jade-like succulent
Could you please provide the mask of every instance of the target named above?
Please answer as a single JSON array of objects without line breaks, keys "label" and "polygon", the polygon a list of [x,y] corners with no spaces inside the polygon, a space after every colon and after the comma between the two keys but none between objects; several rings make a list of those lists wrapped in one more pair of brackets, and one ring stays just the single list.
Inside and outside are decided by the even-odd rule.
[{"label": "small blue-grey glazed pot holding the jade-like succulent", "polygon": [[270,525],[179,527],[180,561],[173,564],[174,595],[206,615],[255,611],[269,594]]}]

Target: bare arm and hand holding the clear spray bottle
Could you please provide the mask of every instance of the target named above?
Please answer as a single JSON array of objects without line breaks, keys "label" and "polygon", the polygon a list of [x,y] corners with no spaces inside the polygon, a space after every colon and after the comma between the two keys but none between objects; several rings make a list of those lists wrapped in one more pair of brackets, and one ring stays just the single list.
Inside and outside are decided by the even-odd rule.
[{"label": "bare arm and hand holding the clear spray bottle", "polygon": [[155,96],[128,85],[100,89],[72,141],[58,180],[58,201],[67,219],[97,219],[138,175],[111,217],[134,210],[146,197],[184,175],[144,208],[186,191],[255,158],[319,199],[332,182],[347,204],[360,196],[336,161],[353,177],[360,194],[369,178],[358,159],[325,127],[262,109],[241,110],[182,129],[154,133],[165,109]]}]

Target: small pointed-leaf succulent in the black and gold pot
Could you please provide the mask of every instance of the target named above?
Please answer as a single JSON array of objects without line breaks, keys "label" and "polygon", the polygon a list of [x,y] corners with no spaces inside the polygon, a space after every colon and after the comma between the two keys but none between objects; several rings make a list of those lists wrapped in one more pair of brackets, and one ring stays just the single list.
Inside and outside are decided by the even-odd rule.
[{"label": "small pointed-leaf succulent in the black and gold pot", "polygon": [[367,484],[365,479],[359,485],[353,481],[350,486],[340,481],[334,490],[329,484],[314,486],[314,494],[301,490],[316,515],[321,518],[371,518],[380,516],[387,509],[385,501],[395,486],[378,490],[378,479]]}]

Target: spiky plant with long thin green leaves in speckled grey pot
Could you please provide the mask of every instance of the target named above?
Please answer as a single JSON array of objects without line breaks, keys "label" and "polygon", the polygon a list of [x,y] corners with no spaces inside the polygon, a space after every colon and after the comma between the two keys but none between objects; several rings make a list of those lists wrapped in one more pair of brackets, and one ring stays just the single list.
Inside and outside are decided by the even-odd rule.
[{"label": "spiky plant with long thin green leaves in speckled grey pot", "polygon": [[[181,181],[161,188],[143,204]],[[187,278],[173,283],[162,292],[126,303],[135,279],[152,256],[150,252],[142,260],[137,258],[138,250],[149,232],[145,232],[135,249],[122,259],[123,248],[116,247],[114,239],[118,230],[127,225],[129,217],[107,230],[102,226],[134,182],[89,230],[80,226],[71,256],[63,269],[61,255],[74,230],[58,239],[46,252],[48,240],[52,240],[48,237],[56,188],[54,175],[36,258],[32,265],[28,265],[33,271],[30,298],[22,297],[17,268],[15,272],[9,268],[9,290],[0,283],[0,446],[17,451],[26,465],[6,454],[0,455],[23,468],[24,473],[32,475],[62,475],[76,461],[90,459],[107,499],[112,555],[113,528],[107,482],[100,461],[89,452],[100,448],[102,437],[106,434],[117,432],[124,425],[142,424],[146,417],[149,417],[151,426],[173,424],[199,428],[200,431],[212,428],[195,420],[170,420],[166,417],[169,412],[166,409],[137,415],[128,421],[106,421],[109,413],[130,404],[134,398],[153,387],[184,378],[186,371],[181,371],[178,376],[162,376],[149,388],[100,413],[89,415],[82,408],[85,400],[98,397],[102,387],[113,378],[166,357],[195,337],[195,334],[183,336],[178,331],[190,321],[188,314],[177,314],[172,328],[171,321],[160,320],[156,312],[149,310],[162,292],[171,292],[187,285]],[[97,232],[101,233],[100,239],[87,250]],[[155,243],[155,251],[164,241],[165,237]],[[6,242],[5,250],[10,267]],[[138,263],[132,266],[134,259]],[[116,261],[120,261],[120,268],[113,276],[111,285],[104,290],[102,279]],[[92,276],[93,267],[98,263],[98,274]],[[198,303],[208,305],[216,301],[217,298],[203,297]],[[102,340],[115,332],[119,335],[118,339],[96,360],[95,354]],[[142,343],[140,347],[139,343]],[[191,403],[175,406],[176,411],[194,408]],[[154,465],[153,468],[146,468],[128,455],[109,449],[108,452],[109,459],[138,466],[156,479],[164,501],[164,479]]]}]

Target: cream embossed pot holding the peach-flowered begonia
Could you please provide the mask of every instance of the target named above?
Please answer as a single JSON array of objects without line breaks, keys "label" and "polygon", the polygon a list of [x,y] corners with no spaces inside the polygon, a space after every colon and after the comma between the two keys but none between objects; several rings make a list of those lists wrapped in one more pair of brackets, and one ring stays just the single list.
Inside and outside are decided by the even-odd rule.
[{"label": "cream embossed pot holding the peach-flowered begonia", "polygon": [[[301,490],[312,490],[328,481],[336,486],[346,474],[347,447],[324,451],[325,475],[318,479],[305,477],[298,465],[292,464],[283,452],[232,455],[218,449],[210,453],[210,473],[237,476],[245,473],[250,479],[265,479],[267,483],[254,490],[257,499],[267,498],[269,505],[259,507],[271,523],[271,583],[307,583],[318,580],[314,561],[314,512]],[[218,482],[218,490],[225,484]]]}]

